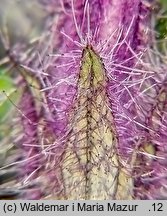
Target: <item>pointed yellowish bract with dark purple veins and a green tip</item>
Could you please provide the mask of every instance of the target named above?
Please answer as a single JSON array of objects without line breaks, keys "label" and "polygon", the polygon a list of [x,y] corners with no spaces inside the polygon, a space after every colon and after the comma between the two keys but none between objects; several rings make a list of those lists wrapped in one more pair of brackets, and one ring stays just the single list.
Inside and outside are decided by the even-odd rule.
[{"label": "pointed yellowish bract with dark purple veins and a green tip", "polygon": [[58,199],[131,199],[132,180],[119,162],[117,134],[101,59],[86,47],[78,80],[71,133],[60,164]]}]

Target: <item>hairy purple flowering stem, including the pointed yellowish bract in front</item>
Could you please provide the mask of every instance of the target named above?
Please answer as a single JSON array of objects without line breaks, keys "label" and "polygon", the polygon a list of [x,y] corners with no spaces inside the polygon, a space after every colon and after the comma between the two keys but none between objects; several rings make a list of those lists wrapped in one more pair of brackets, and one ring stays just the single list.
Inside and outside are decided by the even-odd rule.
[{"label": "hairy purple flowering stem, including the pointed yellowish bract in front", "polygon": [[42,112],[25,131],[39,145],[28,157],[41,150],[42,162],[28,176],[39,169],[47,198],[165,198],[166,76],[150,49],[151,3],[41,2],[55,15],[43,70],[33,66]]}]

